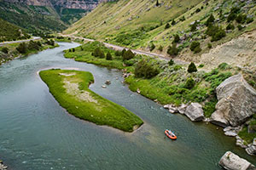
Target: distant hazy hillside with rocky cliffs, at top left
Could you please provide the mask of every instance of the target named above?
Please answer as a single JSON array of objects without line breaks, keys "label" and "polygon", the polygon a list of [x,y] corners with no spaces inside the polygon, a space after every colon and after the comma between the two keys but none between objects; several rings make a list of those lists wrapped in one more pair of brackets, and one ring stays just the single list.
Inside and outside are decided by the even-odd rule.
[{"label": "distant hazy hillside with rocky cliffs, at top left", "polygon": [[103,0],[0,0],[0,18],[32,33],[61,31]]}]

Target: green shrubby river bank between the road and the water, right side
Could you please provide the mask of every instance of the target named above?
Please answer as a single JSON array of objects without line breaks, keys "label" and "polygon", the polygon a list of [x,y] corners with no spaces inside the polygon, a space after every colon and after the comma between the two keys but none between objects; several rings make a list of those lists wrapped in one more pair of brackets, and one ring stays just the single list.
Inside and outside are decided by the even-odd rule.
[{"label": "green shrubby river bank between the road and the water, right side", "polygon": [[[96,48],[101,48],[105,54],[111,54],[113,59],[108,60],[93,56]],[[188,65],[177,65],[154,57],[136,55],[132,59],[124,60],[116,51],[105,48],[99,42],[88,42],[79,48],[66,50],[65,57],[122,70],[125,82],[129,84],[131,91],[161,105],[171,105],[172,109],[168,106],[171,113],[178,112],[178,106],[182,106],[182,104],[199,103],[202,108],[201,116],[206,122],[210,121],[209,117],[212,116],[218,102],[215,89],[228,77],[241,73],[247,82],[256,88],[256,77],[253,76],[253,71],[241,70],[241,68],[223,63],[210,72],[201,71],[201,68],[198,68],[198,71],[189,73],[187,71]],[[137,77],[137,65],[142,60],[146,60],[149,65],[159,68],[159,74],[152,78]],[[256,136],[254,133],[247,133],[246,127],[239,127],[241,133],[239,133],[240,137],[237,136],[237,138],[239,137],[238,140],[243,139],[242,143],[250,144]],[[224,130],[225,133],[226,131],[227,129]],[[239,131],[236,132],[236,135]],[[241,146],[241,144],[238,145]]]}]

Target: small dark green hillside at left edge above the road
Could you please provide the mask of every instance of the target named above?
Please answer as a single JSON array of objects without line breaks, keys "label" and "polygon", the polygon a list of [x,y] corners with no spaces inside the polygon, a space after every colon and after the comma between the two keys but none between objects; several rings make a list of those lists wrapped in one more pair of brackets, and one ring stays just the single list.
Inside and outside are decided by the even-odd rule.
[{"label": "small dark green hillside at left edge above the road", "polygon": [[20,27],[0,19],[0,42],[26,39],[30,36]]}]

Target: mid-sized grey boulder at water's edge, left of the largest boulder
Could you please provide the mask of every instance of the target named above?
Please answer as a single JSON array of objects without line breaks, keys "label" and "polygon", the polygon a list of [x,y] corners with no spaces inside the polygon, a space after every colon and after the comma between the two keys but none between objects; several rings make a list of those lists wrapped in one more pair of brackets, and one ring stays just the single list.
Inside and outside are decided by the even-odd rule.
[{"label": "mid-sized grey boulder at water's edge, left of the largest boulder", "polygon": [[184,113],[193,122],[201,121],[204,119],[204,111],[199,103],[191,103]]}]

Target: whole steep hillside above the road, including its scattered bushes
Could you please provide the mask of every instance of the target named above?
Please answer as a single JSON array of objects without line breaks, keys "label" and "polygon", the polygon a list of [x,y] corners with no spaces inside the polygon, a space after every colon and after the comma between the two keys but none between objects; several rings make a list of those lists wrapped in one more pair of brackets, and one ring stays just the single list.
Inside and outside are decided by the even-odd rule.
[{"label": "whole steep hillside above the road, including its scattered bushes", "polygon": [[[161,0],[159,3],[158,6],[156,1],[151,0],[102,3],[64,33],[76,33],[77,36],[150,50],[166,56],[177,55],[181,59],[200,63],[201,54],[208,53],[210,48],[214,50],[218,45],[256,28],[256,21],[253,20],[255,1]],[[211,14],[213,20],[206,26]],[[230,28],[227,29],[227,26]],[[207,32],[207,29],[210,31]],[[215,32],[218,32],[217,36]],[[176,36],[178,39],[174,49],[177,49],[177,53],[174,53],[175,50],[169,47],[173,47]],[[200,46],[192,52],[189,48],[195,41]],[[250,47],[254,53],[253,46]],[[242,49],[236,54],[244,51]]]}]

